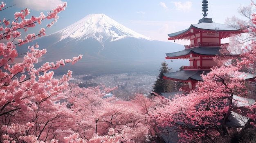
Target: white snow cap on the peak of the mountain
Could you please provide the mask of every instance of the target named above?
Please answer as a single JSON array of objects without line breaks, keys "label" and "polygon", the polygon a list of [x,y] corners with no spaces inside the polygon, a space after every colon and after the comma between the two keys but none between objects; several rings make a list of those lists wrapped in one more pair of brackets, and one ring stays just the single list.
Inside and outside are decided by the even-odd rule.
[{"label": "white snow cap on the peak of the mountain", "polygon": [[102,45],[105,40],[112,42],[124,37],[136,37],[146,40],[153,40],[150,37],[146,37],[128,29],[126,26],[119,24],[105,14],[87,15],[85,18],[56,33],[61,34],[60,41],[67,37],[77,40],[85,40],[92,37],[101,42]]}]

